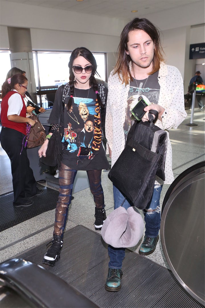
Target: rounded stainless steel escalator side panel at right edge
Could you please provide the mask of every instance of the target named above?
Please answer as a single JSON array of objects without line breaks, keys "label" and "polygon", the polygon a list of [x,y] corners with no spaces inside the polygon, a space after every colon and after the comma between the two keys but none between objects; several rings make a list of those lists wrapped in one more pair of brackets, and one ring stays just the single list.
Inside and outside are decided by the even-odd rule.
[{"label": "rounded stainless steel escalator side panel at right edge", "polygon": [[204,162],[182,173],[167,192],[161,219],[162,248],[181,285],[205,304]]}]

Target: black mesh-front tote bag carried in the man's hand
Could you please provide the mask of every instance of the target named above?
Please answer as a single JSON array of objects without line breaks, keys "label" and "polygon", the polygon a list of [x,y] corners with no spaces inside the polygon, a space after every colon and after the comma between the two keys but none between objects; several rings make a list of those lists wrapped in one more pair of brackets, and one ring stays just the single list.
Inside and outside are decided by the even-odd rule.
[{"label": "black mesh-front tote bag carried in the man's hand", "polygon": [[[136,122],[129,130],[124,150],[108,173],[113,184],[139,209],[151,200],[155,176],[164,180],[167,133],[150,122]],[[155,119],[155,121],[156,121]]]}]

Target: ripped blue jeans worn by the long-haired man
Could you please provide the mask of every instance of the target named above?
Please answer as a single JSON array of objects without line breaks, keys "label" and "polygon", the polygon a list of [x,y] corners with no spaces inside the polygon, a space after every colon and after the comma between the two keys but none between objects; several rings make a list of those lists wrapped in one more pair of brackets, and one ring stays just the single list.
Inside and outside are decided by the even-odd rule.
[{"label": "ripped blue jeans worn by the long-haired man", "polygon": [[[160,213],[160,194],[162,185],[155,185],[151,201],[148,203],[146,209],[143,210],[145,221],[145,235],[148,237],[157,237],[160,230],[161,213]],[[133,206],[131,201],[124,200],[125,196],[113,185],[114,195],[114,209],[117,209],[123,203],[123,207]],[[122,260],[125,256],[125,248],[114,248],[108,245],[108,254],[110,257],[109,268],[121,269]]]}]

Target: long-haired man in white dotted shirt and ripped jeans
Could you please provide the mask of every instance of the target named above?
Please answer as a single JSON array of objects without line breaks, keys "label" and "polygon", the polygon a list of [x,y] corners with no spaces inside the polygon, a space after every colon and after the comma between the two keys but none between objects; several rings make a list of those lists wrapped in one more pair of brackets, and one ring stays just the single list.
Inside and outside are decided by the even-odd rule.
[{"label": "long-haired man in white dotted shirt and ripped jeans", "polygon": [[[183,79],[176,67],[163,61],[160,34],[156,27],[145,18],[134,18],[123,29],[118,46],[118,57],[114,70],[108,79],[108,101],[106,109],[105,133],[112,166],[124,149],[129,128],[132,125],[129,98],[135,95],[152,103],[144,108],[142,121],[148,121],[148,112],[155,109],[159,113],[156,125],[167,131],[186,118],[184,110]],[[165,163],[165,184],[174,180],[172,172],[171,143],[168,135],[168,149]],[[163,181],[156,177],[152,199],[144,209],[145,237],[140,246],[141,255],[154,252],[159,240],[160,193]],[[113,186],[114,209],[120,207],[125,196]],[[123,207],[133,206],[125,199]],[[122,278],[124,248],[108,246],[110,261],[105,289],[119,291]]]}]

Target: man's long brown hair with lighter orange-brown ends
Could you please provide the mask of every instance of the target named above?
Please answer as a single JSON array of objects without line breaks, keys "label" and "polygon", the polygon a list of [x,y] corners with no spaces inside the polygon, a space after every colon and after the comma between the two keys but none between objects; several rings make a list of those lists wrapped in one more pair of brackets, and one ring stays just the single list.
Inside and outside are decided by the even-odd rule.
[{"label": "man's long brown hair with lighter orange-brown ends", "polygon": [[128,50],[128,34],[132,30],[143,30],[151,37],[155,44],[154,57],[152,60],[153,69],[149,75],[157,72],[160,68],[160,62],[164,60],[162,55],[164,51],[161,46],[159,30],[146,18],[132,19],[121,32],[120,43],[117,48],[117,62],[113,71],[113,75],[117,73],[119,79],[122,83],[125,83],[125,85],[129,83],[129,80],[132,81],[132,75],[129,69],[129,65],[132,60],[130,55],[126,54],[126,51]]}]

